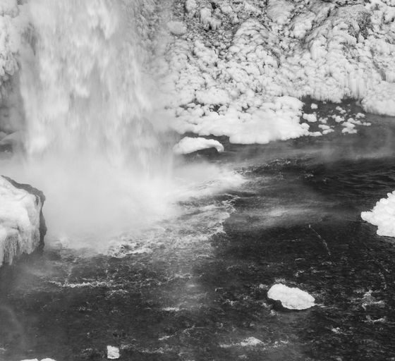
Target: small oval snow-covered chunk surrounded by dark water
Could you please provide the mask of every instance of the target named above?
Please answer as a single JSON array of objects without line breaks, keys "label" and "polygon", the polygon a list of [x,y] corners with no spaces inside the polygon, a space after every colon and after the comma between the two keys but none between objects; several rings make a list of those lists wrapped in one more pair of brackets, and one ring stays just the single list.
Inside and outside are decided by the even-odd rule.
[{"label": "small oval snow-covered chunk surrounded by dark water", "polygon": [[272,286],[267,297],[272,300],[279,300],[283,307],[288,310],[306,310],[315,305],[315,299],[304,290],[291,288],[281,283]]}]

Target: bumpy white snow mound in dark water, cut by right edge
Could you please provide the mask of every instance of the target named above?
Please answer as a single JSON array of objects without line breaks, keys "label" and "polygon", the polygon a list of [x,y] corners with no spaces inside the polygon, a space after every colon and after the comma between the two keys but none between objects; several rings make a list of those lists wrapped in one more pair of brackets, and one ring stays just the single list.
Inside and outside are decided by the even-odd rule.
[{"label": "bumpy white snow mound in dark water, cut by right edge", "polygon": [[371,212],[362,212],[360,216],[378,227],[378,235],[395,237],[395,191],[379,200]]}]

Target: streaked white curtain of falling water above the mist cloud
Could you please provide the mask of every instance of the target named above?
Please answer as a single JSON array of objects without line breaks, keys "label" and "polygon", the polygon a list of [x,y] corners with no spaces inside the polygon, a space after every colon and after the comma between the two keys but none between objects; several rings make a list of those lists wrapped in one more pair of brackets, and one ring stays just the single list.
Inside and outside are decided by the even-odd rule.
[{"label": "streaked white curtain of falling water above the mist cloud", "polygon": [[159,147],[150,121],[150,79],[142,73],[149,54],[142,38],[147,25],[139,18],[147,5],[135,0],[30,0],[29,5],[35,38],[21,78],[28,153],[92,152],[112,164],[147,166]]}]

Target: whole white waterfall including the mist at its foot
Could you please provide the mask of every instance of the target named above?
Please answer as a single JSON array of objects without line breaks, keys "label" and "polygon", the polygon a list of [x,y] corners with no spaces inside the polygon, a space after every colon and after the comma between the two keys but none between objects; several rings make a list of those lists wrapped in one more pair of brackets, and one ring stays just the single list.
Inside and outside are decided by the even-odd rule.
[{"label": "whole white waterfall including the mist at its foot", "polygon": [[30,0],[27,10],[24,179],[46,193],[50,228],[97,238],[168,212],[171,156],[147,75],[154,2]]}]

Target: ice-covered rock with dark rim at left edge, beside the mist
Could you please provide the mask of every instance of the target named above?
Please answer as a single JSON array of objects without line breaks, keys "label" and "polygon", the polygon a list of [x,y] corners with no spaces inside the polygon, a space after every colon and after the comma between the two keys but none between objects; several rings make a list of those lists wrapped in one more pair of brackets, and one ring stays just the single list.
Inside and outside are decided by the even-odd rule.
[{"label": "ice-covered rock with dark rim at left edge, beside the mist", "polygon": [[0,266],[43,247],[44,200],[44,194],[32,186],[0,176]]}]

